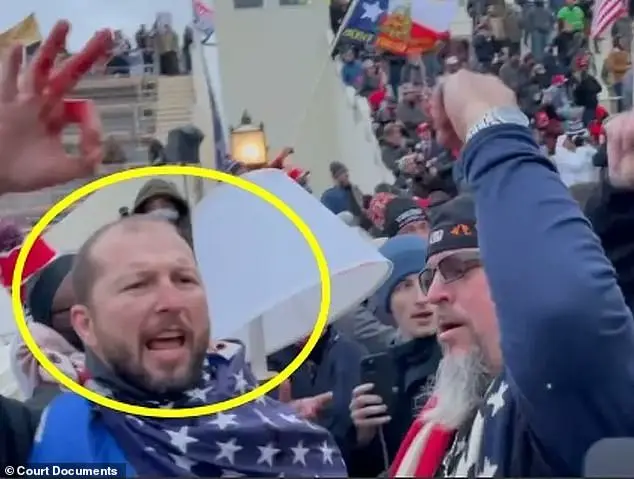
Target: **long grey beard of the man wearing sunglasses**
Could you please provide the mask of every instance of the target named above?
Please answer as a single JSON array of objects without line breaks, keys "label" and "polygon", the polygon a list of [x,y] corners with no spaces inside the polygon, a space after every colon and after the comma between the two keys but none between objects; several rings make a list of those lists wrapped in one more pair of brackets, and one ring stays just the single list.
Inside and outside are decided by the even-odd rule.
[{"label": "long grey beard of the man wearing sunglasses", "polygon": [[431,394],[436,404],[423,413],[423,420],[449,429],[459,428],[479,406],[489,382],[480,348],[446,354],[438,366]]}]

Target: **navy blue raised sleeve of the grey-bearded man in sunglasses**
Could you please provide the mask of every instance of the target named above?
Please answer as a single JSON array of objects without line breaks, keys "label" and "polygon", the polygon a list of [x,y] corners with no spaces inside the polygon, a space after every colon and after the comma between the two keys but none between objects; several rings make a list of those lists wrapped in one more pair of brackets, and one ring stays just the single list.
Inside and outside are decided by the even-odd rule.
[{"label": "navy blue raised sleeve of the grey-bearded man in sunglasses", "polygon": [[482,449],[501,458],[503,476],[581,476],[596,441],[634,436],[632,314],[590,223],[527,128],[479,132],[462,161],[504,358],[506,417],[488,412],[497,425],[485,421]]}]

